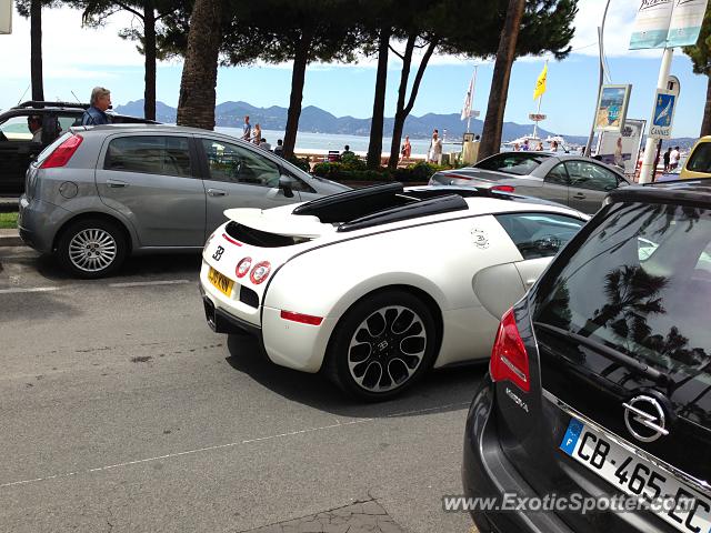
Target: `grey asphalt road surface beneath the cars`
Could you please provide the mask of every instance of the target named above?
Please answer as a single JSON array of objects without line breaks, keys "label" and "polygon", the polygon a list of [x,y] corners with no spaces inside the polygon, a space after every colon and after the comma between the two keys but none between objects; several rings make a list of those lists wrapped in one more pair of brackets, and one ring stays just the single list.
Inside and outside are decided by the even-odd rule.
[{"label": "grey asphalt road surface beneath the cars", "polygon": [[354,403],[212,333],[198,263],[137,259],[87,282],[0,249],[0,531],[268,531],[358,502],[404,531],[470,531],[441,497],[461,493],[483,369]]}]

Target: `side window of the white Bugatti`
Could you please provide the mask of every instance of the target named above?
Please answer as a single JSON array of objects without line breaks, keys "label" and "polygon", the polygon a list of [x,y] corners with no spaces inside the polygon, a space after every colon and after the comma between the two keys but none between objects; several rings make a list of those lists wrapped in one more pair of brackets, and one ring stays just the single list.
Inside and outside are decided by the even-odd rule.
[{"label": "side window of the white Bugatti", "polygon": [[555,255],[584,224],[572,217],[550,213],[499,214],[497,220],[527,260]]}]

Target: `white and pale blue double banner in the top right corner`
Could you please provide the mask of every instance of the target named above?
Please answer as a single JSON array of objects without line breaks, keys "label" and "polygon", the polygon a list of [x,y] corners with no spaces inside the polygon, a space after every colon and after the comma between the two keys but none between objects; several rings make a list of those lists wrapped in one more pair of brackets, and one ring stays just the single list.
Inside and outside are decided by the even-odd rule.
[{"label": "white and pale blue double banner in the top right corner", "polygon": [[640,0],[630,50],[693,46],[708,0]]}]

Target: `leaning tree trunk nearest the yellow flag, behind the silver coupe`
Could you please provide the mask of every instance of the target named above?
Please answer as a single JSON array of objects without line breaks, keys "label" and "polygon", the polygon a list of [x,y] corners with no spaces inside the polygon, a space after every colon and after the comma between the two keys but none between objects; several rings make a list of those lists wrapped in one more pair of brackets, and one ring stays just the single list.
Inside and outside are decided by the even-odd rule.
[{"label": "leaning tree trunk nearest the yellow flag, behind the silver coupe", "polygon": [[487,118],[484,119],[484,128],[481,132],[481,143],[479,144],[480,160],[499,152],[501,148],[503,113],[507,109],[511,67],[515,59],[515,43],[519,39],[519,30],[521,28],[521,18],[523,17],[524,8],[525,0],[509,0],[507,20],[503,24],[501,37],[499,38],[497,61],[493,67]]}]

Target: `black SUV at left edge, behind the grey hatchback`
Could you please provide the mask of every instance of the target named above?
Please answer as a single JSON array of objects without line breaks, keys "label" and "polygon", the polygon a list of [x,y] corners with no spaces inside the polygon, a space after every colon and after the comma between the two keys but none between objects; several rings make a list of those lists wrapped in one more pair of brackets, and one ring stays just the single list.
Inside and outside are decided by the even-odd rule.
[{"label": "black SUV at left edge, behind the grey hatchback", "polygon": [[[0,194],[21,194],[24,173],[37,155],[72,125],[81,124],[88,103],[21,103],[0,113]],[[153,123],[136,117],[110,114],[113,123]],[[41,127],[34,135],[30,123]]]}]

